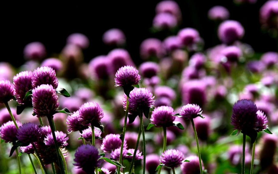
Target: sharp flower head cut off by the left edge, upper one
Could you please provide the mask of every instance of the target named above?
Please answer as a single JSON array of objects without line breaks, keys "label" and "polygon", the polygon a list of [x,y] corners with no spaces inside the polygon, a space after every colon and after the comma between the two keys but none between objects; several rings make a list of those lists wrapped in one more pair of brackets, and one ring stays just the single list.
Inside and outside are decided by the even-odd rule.
[{"label": "sharp flower head cut off by the left edge, upper one", "polygon": [[0,103],[12,100],[14,85],[9,80],[0,80]]}]

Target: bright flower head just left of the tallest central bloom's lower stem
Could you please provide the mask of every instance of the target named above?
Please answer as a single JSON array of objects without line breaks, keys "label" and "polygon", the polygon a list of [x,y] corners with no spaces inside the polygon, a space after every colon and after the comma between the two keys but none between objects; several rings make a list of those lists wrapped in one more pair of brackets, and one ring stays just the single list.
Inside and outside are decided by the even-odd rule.
[{"label": "bright flower head just left of the tallest central bloom's lower stem", "polygon": [[[102,140],[102,145],[100,149],[103,152],[111,152],[112,150],[118,149],[122,145],[122,140],[119,134],[108,134]],[[124,141],[124,147],[126,148],[126,141]]]}]

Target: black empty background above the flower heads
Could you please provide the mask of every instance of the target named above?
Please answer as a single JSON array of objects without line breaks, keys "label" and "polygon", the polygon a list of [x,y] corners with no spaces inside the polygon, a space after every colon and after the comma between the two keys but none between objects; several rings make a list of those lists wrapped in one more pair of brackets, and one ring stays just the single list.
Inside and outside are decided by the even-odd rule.
[{"label": "black empty background above the flower heads", "polygon": [[[126,49],[138,64],[139,45],[149,37],[164,39],[163,33],[152,34],[149,28],[160,1],[92,1],[92,3],[65,4],[5,4],[1,10],[1,61],[11,62],[15,67],[24,63],[23,48],[33,41],[42,42],[51,57],[65,46],[69,34],[79,32],[90,40],[84,51],[85,61],[107,54],[111,48],[102,43],[102,34],[110,28],[120,28],[126,34]],[[205,48],[219,44],[215,37],[214,23],[207,18],[207,11],[215,5],[228,8],[230,18],[245,28],[243,42],[256,52],[277,51],[276,41],[262,33],[259,9],[266,1],[256,4],[235,5],[232,0],[183,0],[177,1],[183,23],[179,28],[196,28],[205,41]]]}]

